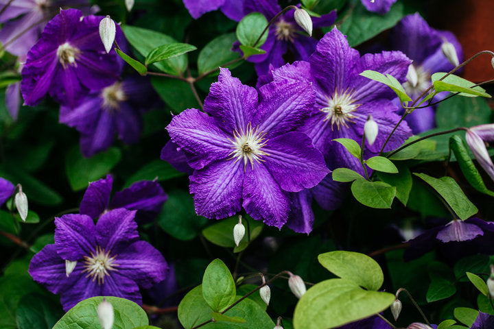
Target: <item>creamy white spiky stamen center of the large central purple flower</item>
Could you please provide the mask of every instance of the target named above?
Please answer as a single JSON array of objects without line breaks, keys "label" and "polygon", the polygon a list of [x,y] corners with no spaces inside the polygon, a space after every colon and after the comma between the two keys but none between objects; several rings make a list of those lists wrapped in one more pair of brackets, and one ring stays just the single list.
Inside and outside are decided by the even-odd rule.
[{"label": "creamy white spiky stamen center of the large central purple flower", "polygon": [[250,123],[247,125],[246,132],[237,132],[237,130],[235,130],[235,132],[233,132],[235,140],[232,141],[228,138],[228,141],[233,143],[233,146],[231,147],[233,151],[229,154],[231,157],[226,160],[235,158],[235,162],[237,162],[238,160],[243,159],[244,170],[246,169],[247,162],[250,162],[250,166],[254,169],[254,161],[261,162],[263,161],[261,159],[262,156],[269,155],[262,150],[262,147],[268,142],[267,140],[264,140],[264,135],[266,134],[257,132],[257,127],[253,129]]}]

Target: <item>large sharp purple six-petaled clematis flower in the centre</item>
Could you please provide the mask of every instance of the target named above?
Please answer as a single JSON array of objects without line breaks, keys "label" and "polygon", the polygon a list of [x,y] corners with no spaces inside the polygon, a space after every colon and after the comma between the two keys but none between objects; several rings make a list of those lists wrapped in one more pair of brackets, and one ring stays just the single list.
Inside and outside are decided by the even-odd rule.
[{"label": "large sharp purple six-petaled clematis flower in the centre", "polygon": [[188,109],[167,126],[195,169],[190,191],[198,215],[222,219],[242,207],[281,228],[289,192],[318,184],[329,173],[310,138],[294,130],[314,103],[308,83],[282,80],[255,88],[221,69],[204,112]]}]

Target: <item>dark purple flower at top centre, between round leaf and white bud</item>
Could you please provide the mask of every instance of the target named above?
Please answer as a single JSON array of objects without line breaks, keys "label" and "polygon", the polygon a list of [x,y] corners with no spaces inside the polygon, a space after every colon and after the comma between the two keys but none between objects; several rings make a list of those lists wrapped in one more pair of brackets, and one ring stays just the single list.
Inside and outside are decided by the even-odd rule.
[{"label": "dark purple flower at top centre, between round leaf and white bud", "polygon": [[[270,21],[281,12],[281,6],[277,0],[245,1],[244,14],[250,14],[251,12],[261,12]],[[314,28],[331,26],[335,21],[336,10],[319,18],[312,18]],[[283,66],[286,63],[283,56],[288,51],[293,53],[294,60],[307,60],[316,49],[316,44],[317,40],[307,36],[296,23],[294,10],[288,10],[270,26],[268,38],[261,46],[261,49],[265,50],[266,53],[250,56],[247,60],[256,63],[257,75],[261,76],[269,72],[270,64],[274,68]]]}]

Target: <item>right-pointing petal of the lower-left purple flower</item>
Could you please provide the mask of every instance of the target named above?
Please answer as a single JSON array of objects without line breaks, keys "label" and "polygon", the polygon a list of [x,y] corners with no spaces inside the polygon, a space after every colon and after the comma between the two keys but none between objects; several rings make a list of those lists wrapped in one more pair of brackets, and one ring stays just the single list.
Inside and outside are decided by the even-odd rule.
[{"label": "right-pointing petal of the lower-left purple flower", "polygon": [[121,276],[139,282],[143,288],[150,288],[165,279],[169,270],[165,258],[145,241],[137,241],[126,247],[118,255],[116,263],[119,265],[117,272]]}]

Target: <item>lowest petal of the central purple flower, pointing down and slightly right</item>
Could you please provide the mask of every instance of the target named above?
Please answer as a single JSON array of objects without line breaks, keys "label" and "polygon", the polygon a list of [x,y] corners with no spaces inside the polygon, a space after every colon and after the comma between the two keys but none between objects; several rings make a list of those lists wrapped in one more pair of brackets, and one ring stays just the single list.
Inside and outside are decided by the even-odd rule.
[{"label": "lowest petal of the central purple flower, pointing down and slightly right", "polygon": [[285,225],[290,212],[288,193],[281,190],[263,163],[246,168],[242,206],[253,219],[277,228]]}]

